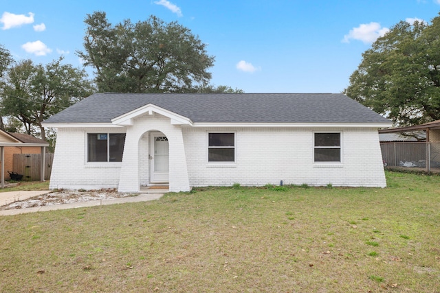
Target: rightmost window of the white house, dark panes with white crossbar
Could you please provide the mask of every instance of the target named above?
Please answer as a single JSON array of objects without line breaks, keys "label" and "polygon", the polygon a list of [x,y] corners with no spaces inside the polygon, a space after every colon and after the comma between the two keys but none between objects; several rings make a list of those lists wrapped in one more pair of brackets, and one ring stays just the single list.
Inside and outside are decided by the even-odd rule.
[{"label": "rightmost window of the white house, dark panes with white crossbar", "polygon": [[338,132],[315,133],[315,162],[341,161],[341,134]]}]

